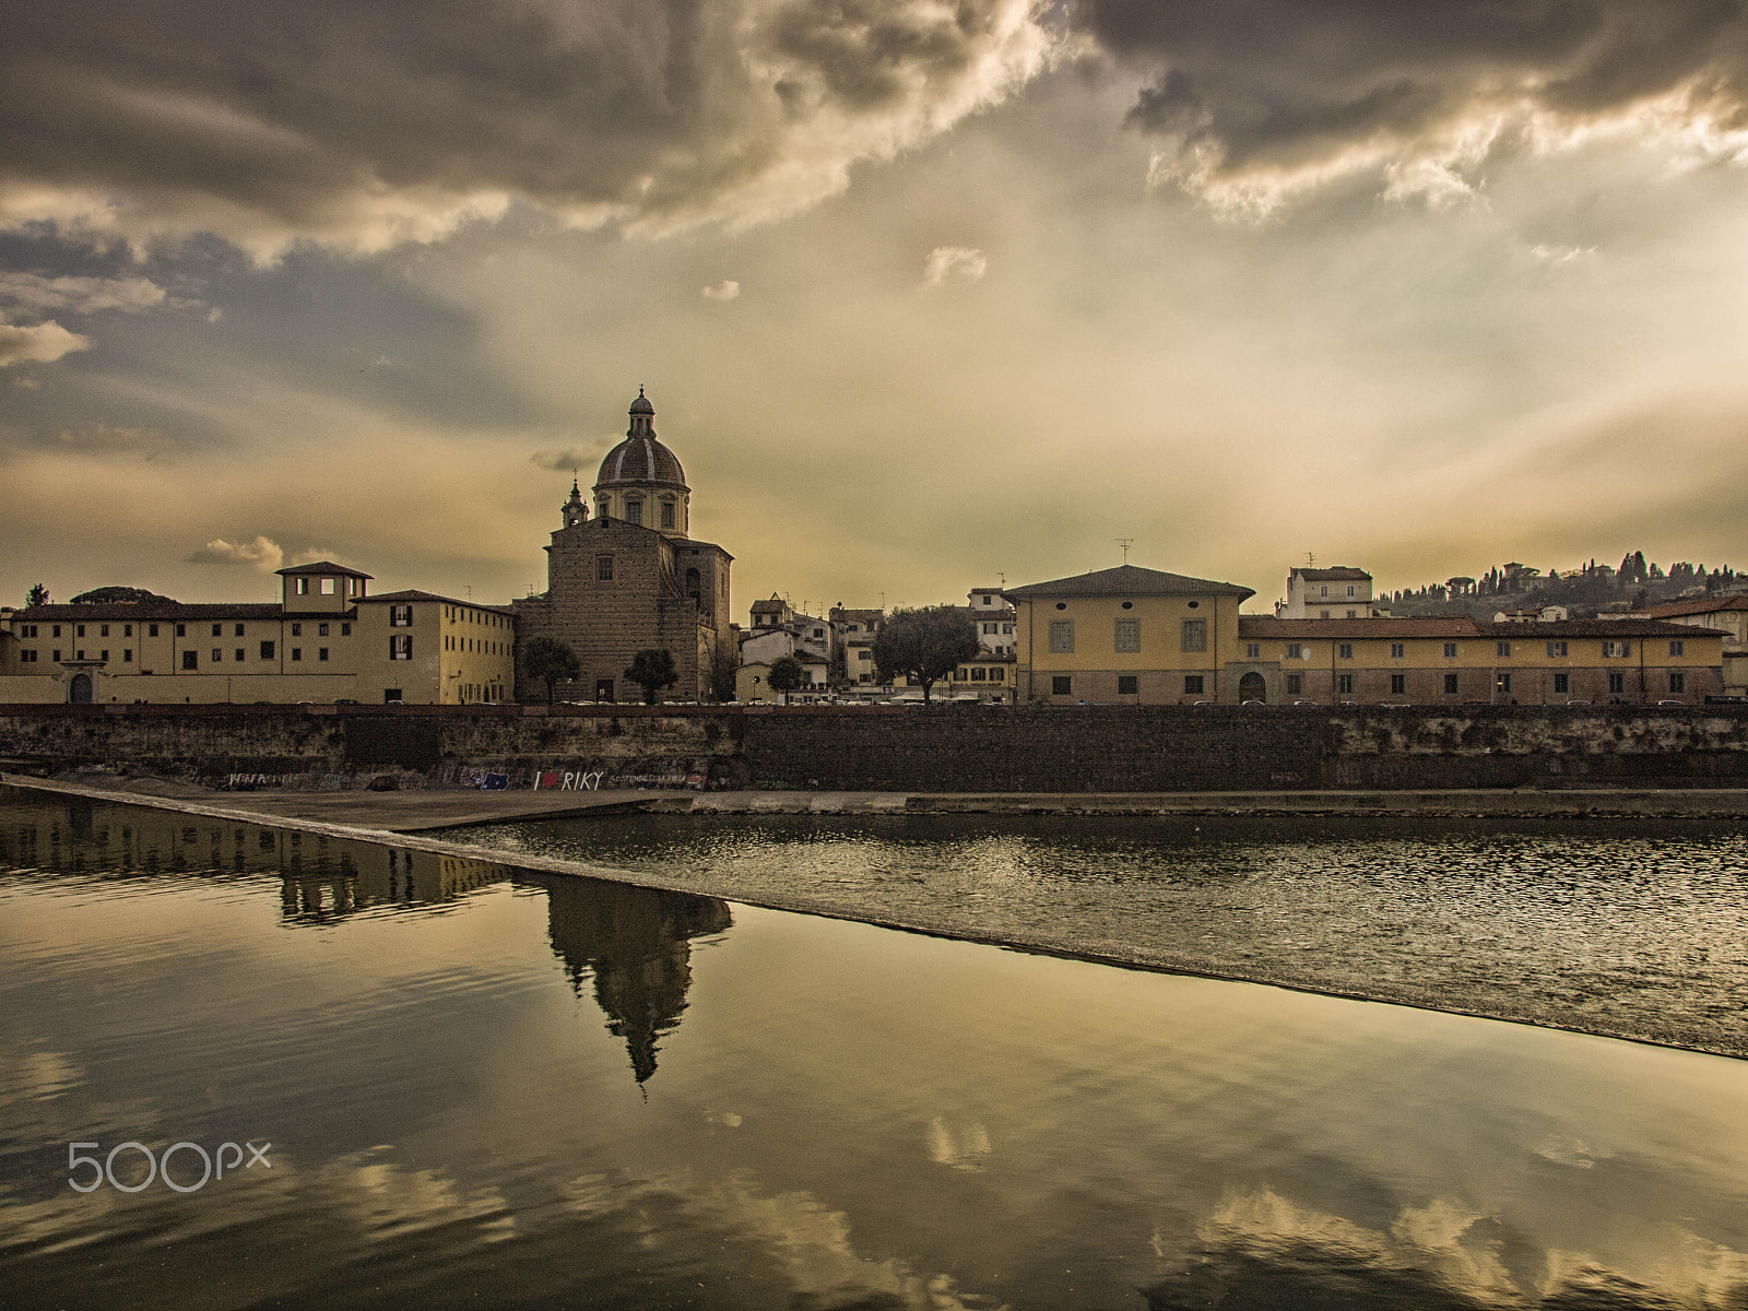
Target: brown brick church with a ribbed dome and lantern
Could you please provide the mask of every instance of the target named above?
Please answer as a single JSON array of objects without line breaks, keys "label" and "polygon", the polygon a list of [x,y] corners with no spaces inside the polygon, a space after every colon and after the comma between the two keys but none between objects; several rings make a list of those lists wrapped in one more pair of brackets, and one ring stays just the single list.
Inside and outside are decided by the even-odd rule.
[{"label": "brown brick church with a ribbed dome and lantern", "polygon": [[[547,551],[547,589],[512,603],[517,642],[552,636],[577,654],[580,675],[561,701],[640,701],[626,678],[640,650],[668,650],[680,682],[668,701],[732,696],[729,626],[734,558],[690,537],[692,489],[678,456],[656,435],[656,407],[638,390],[626,439],[601,460],[591,503],[573,481]],[[540,680],[523,699],[544,697]]]}]

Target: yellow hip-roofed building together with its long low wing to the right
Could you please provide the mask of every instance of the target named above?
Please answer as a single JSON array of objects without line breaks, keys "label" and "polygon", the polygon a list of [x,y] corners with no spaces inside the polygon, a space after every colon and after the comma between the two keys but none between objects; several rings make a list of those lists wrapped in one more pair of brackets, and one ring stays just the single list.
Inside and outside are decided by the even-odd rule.
[{"label": "yellow hip-roofed building together with its long low wing to the right", "polygon": [[1725,635],[1708,628],[1239,615],[1246,587],[1134,565],[1003,594],[1023,703],[1699,704],[1724,692]]}]

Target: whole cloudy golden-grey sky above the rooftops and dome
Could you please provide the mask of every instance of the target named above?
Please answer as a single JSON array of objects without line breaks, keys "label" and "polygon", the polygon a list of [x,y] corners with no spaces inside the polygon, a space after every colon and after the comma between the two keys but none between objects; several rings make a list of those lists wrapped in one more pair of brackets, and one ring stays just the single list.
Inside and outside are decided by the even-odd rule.
[{"label": "whole cloudy golden-grey sky above the rooftops and dome", "polygon": [[638,386],[734,608],[1748,563],[1725,0],[0,14],[0,603],[503,603]]}]

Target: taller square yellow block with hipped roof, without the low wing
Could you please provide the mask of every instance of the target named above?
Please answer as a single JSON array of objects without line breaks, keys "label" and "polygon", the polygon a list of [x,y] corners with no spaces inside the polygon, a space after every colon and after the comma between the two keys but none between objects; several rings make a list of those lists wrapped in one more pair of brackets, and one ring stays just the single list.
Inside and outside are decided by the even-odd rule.
[{"label": "taller square yellow block with hipped roof, without the low wing", "polygon": [[1236,699],[1238,607],[1232,582],[1119,565],[1002,591],[1016,610],[1021,703],[1187,704]]}]

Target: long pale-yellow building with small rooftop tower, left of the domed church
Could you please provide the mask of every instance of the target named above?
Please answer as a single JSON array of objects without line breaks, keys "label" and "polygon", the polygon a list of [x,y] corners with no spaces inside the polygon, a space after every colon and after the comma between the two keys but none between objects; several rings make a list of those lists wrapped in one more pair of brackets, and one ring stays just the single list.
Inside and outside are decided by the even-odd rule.
[{"label": "long pale-yellow building with small rooftop tower, left of the domed church", "polygon": [[369,596],[369,573],[332,561],[280,570],[280,584],[278,605],[14,610],[0,640],[0,701],[458,704],[514,694],[507,608]]}]

